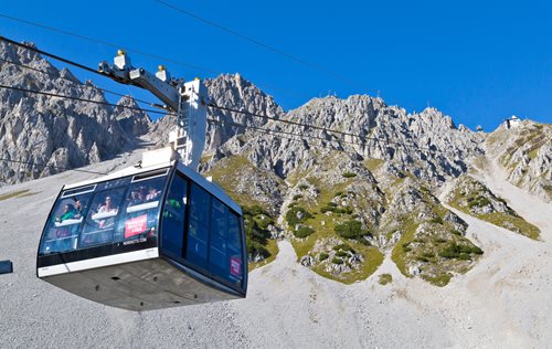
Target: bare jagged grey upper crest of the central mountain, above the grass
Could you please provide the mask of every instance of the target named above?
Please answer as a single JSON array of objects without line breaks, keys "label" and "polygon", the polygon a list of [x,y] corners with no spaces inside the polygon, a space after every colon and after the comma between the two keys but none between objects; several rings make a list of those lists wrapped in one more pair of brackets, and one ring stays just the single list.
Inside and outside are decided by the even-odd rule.
[{"label": "bare jagged grey upper crest of the central mountain, above the grass", "polygon": [[388,106],[383,99],[368,95],[314,98],[287,117],[317,127],[270,121],[265,128],[300,135],[300,139],[252,134],[245,142],[229,142],[221,152],[247,152],[257,167],[287,178],[296,170],[310,171],[331,151],[338,151],[352,161],[391,161],[394,169],[434,183],[464,173],[467,158],[482,152],[480,135],[456,128],[452,118],[439,110],[407,114],[404,108]]}]

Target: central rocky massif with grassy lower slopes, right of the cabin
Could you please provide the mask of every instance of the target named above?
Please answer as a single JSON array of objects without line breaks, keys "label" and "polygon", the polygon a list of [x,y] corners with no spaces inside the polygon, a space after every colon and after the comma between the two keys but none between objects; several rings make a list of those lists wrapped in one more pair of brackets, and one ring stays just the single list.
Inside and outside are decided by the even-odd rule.
[{"label": "central rocky massif with grassy lower slopes, right of the cabin", "polygon": [[[408,114],[369,96],[316,98],[286,119],[312,126],[269,121],[204,169],[242,204],[279,215],[301,264],[349,283],[391,254],[405,275],[437,285],[475,264],[481,251],[434,192],[482,154],[480,134],[437,109]],[[464,248],[464,262],[447,248]]]}]

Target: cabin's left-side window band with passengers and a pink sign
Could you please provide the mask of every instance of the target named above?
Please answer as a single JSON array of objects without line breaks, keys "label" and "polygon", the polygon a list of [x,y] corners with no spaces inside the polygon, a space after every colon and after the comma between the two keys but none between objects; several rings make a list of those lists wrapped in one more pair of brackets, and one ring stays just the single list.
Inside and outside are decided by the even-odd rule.
[{"label": "cabin's left-side window band with passengers and a pink sign", "polygon": [[40,254],[68,252],[110,243],[157,239],[167,176],[144,176],[71,189],[56,201],[41,241]]}]

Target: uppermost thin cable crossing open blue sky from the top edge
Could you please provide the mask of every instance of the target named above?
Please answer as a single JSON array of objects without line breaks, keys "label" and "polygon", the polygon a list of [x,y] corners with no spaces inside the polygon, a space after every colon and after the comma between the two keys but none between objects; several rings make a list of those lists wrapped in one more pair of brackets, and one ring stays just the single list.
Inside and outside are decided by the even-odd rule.
[{"label": "uppermost thin cable crossing open blue sky from the top edge", "polygon": [[232,29],[230,29],[230,28],[227,28],[227,27],[224,27],[224,25],[222,25],[222,24],[219,24],[219,23],[216,23],[216,22],[214,22],[214,21],[212,21],[212,20],[204,19],[204,18],[202,18],[202,17],[200,17],[200,15],[198,15],[198,14],[193,13],[193,12],[190,12],[190,11],[188,11],[188,10],[184,10],[184,9],[182,9],[182,8],[179,8],[179,7],[177,7],[177,6],[174,6],[174,4],[170,3],[170,2],[162,1],[162,0],[155,0],[155,1],[156,1],[156,2],[161,3],[161,4],[166,6],[166,7],[168,7],[168,8],[170,8],[170,9],[173,9],[173,10],[176,10],[176,11],[178,11],[178,12],[182,13],[182,14],[185,14],[185,15],[188,15],[188,17],[191,17],[191,18],[193,18],[193,19],[194,19],[194,20],[197,20],[197,21],[200,21],[200,22],[205,23],[205,24],[208,24],[208,25],[211,25],[211,27],[214,27],[214,28],[220,29],[220,30],[222,30],[222,31],[225,31],[225,32],[227,32],[227,33],[230,33],[230,34],[232,34],[232,35],[234,35],[234,36],[236,36],[236,38],[240,38],[240,39],[242,39],[242,40],[248,41],[248,42],[251,42],[251,43],[253,43],[253,44],[255,44],[255,45],[257,45],[257,46],[259,46],[259,47],[263,47],[263,49],[265,49],[265,50],[268,50],[268,51],[272,51],[272,52],[277,53],[277,54],[279,54],[279,55],[283,55],[283,56],[285,56],[285,57],[287,57],[287,59],[289,59],[289,60],[293,60],[293,61],[295,61],[295,62],[297,62],[297,63],[300,63],[300,64],[302,64],[302,65],[305,65],[305,66],[308,66],[308,67],[310,67],[310,68],[314,68],[314,70],[316,70],[316,71],[318,71],[318,72],[321,72],[321,73],[323,73],[323,74],[326,74],[326,75],[329,75],[329,76],[332,76],[332,77],[339,78],[339,80],[344,81],[344,82],[347,82],[347,83],[354,83],[354,84],[358,84],[358,82],[354,82],[354,81],[352,81],[352,80],[350,80],[350,78],[348,78],[348,77],[346,77],[346,76],[342,76],[342,75],[340,75],[340,74],[338,74],[338,73],[335,73],[335,72],[332,72],[332,71],[329,71],[329,70],[327,70],[327,68],[325,68],[325,67],[321,67],[321,66],[319,66],[319,65],[317,65],[317,64],[310,63],[310,62],[305,61],[305,60],[302,60],[302,59],[299,59],[299,57],[297,57],[297,56],[295,56],[295,55],[293,55],[293,54],[289,54],[289,53],[287,53],[287,52],[285,52],[285,51],[282,51],[282,50],[278,50],[278,49],[276,49],[276,47],[274,47],[274,46],[270,46],[270,45],[268,45],[268,44],[266,44],[266,43],[264,43],[264,42],[261,42],[261,41],[258,41],[258,40],[256,40],[256,39],[253,39],[253,38],[251,38],[251,36],[247,36],[247,35],[244,35],[244,34],[242,34],[242,33],[238,33],[238,32],[236,32],[235,30],[232,30]]}]

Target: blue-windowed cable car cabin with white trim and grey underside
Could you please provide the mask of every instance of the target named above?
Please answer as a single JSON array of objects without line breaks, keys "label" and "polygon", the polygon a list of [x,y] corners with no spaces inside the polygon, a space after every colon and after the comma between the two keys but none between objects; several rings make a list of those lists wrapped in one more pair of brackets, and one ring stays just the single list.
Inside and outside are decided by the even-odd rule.
[{"label": "blue-windowed cable car cabin with white trim and grey underside", "polygon": [[174,155],[160,149],[139,167],[65,186],[42,233],[38,277],[129,310],[245,297],[242,209]]}]

